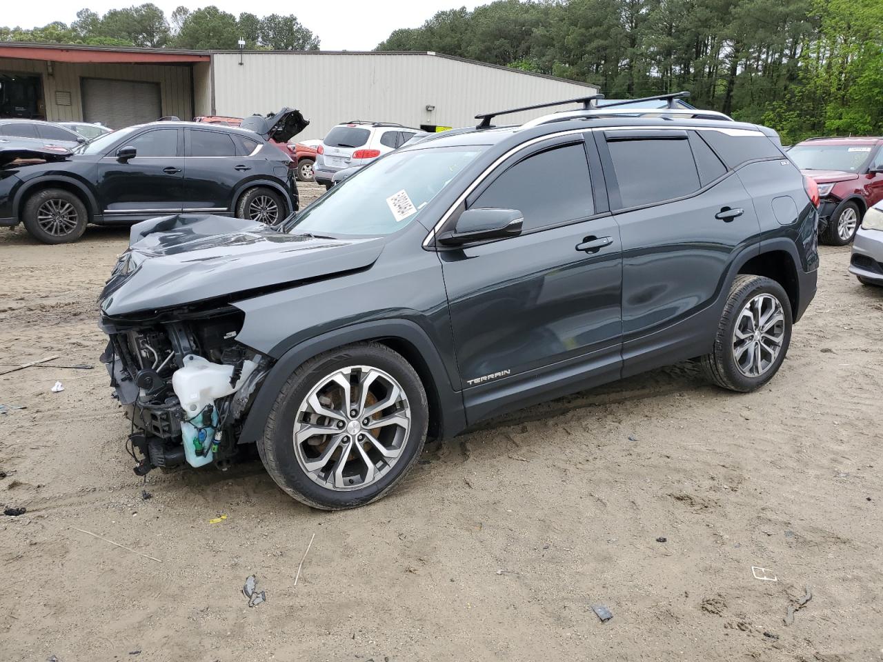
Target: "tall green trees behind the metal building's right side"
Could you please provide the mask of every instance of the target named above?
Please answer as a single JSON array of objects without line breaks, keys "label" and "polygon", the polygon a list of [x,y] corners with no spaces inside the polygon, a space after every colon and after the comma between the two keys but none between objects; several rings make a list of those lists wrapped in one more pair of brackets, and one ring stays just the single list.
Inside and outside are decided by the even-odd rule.
[{"label": "tall green trees behind the metal building's right side", "polygon": [[379,50],[436,51],[691,102],[792,142],[883,133],[883,0],[498,0]]}]

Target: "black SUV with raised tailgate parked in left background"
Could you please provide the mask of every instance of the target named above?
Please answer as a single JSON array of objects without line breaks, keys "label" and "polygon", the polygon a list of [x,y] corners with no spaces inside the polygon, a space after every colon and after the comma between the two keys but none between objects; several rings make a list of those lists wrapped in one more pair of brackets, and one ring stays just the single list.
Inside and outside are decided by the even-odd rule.
[{"label": "black SUV with raised tailgate parked in left background", "polygon": [[154,122],[107,133],[61,160],[5,158],[0,226],[24,222],[34,238],[62,244],[79,239],[90,222],[118,225],[157,214],[274,223],[297,210],[297,188],[294,163],[268,139],[287,141],[307,124],[291,109],[247,117],[243,128]]}]

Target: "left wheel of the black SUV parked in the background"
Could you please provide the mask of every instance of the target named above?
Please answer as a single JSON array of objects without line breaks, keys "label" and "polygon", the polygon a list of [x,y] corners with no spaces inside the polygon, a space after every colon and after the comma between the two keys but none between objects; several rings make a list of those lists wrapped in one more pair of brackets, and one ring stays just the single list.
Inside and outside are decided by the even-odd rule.
[{"label": "left wheel of the black SUV parked in the background", "polygon": [[22,212],[25,229],[43,244],[69,244],[86,231],[86,205],[70,191],[44,189],[34,193]]}]

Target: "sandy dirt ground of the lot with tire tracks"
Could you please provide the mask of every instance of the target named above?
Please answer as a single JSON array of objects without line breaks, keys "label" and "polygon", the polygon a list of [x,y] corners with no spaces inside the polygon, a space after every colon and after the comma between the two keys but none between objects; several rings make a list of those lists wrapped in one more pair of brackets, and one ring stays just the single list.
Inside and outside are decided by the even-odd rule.
[{"label": "sandy dirt ground of the lot with tire tracks", "polygon": [[0,362],[95,365],[0,376],[0,504],[27,508],[0,516],[4,662],[883,659],[883,290],[849,249],[822,250],[758,393],[677,365],[434,445],[386,499],[325,513],[258,461],[132,474],[95,323],[126,238],[0,232]]}]

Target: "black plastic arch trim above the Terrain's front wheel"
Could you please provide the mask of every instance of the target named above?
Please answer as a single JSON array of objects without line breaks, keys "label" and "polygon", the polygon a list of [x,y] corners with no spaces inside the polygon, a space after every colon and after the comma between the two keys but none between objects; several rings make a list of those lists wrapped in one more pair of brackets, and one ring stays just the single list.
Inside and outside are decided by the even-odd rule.
[{"label": "black plastic arch trim above the Terrain's front wheel", "polygon": [[[463,396],[451,387],[442,357],[426,332],[411,320],[376,320],[343,327],[309,340],[299,342],[285,351],[267,373],[245,417],[239,433],[239,443],[252,443],[260,439],[276,397],[291,374],[307,360],[322,352],[334,350],[354,342],[384,339],[405,342],[416,350],[419,362],[411,357],[413,365],[426,387],[430,402],[434,399],[439,423],[439,437],[449,438],[466,427]],[[409,358],[409,357],[405,357]],[[428,382],[428,383],[427,383]]]}]

